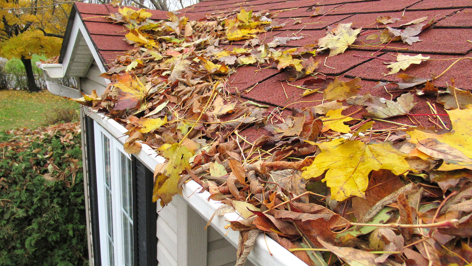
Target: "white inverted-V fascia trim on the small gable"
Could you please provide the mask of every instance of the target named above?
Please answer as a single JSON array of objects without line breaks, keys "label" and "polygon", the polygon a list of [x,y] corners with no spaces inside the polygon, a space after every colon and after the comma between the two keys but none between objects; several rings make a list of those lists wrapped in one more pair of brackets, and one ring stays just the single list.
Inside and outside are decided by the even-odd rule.
[{"label": "white inverted-V fascia trim on the small gable", "polygon": [[[85,28],[85,25],[82,22],[82,19],[80,18],[78,12],[76,12],[76,17],[74,18],[74,24],[72,25],[72,30],[70,32],[69,42],[67,44],[66,54],[64,55],[64,59],[62,60],[64,75],[66,74],[67,67],[72,58],[72,53],[74,52],[74,45],[76,44],[77,35],[79,33],[84,36],[85,42],[87,43],[87,46],[89,47],[90,52],[93,55],[93,59],[97,63],[100,71],[102,73],[105,73],[106,72],[105,66],[100,60],[100,56],[98,55],[97,50],[95,49],[95,46],[93,45],[92,39],[87,33],[87,29]],[[105,79],[105,81],[107,82],[107,84],[110,83],[110,80]]]}]

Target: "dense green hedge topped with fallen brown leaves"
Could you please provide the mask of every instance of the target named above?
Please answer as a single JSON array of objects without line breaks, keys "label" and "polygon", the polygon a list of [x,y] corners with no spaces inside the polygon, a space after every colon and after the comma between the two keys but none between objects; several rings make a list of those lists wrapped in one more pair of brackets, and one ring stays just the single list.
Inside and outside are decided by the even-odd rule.
[{"label": "dense green hedge topped with fallen brown leaves", "polygon": [[0,265],[88,265],[80,124],[0,133]]}]

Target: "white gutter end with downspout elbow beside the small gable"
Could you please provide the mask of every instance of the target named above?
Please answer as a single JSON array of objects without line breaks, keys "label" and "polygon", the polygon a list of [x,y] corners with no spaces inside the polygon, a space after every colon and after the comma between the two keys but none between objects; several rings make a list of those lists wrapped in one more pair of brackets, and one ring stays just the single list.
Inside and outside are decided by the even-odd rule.
[{"label": "white gutter end with downspout elbow beside the small gable", "polygon": [[59,84],[59,79],[64,78],[62,64],[43,64],[36,62],[36,65],[42,70],[46,87],[52,94],[70,98],[80,98],[82,96],[78,89],[72,89]]}]

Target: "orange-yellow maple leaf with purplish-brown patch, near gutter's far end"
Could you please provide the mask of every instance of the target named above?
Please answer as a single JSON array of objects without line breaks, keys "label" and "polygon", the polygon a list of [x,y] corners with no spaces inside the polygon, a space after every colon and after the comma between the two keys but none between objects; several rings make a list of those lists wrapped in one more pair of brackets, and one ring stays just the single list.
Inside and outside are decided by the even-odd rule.
[{"label": "orange-yellow maple leaf with purplish-brown patch, near gutter's far end", "polygon": [[118,101],[113,109],[126,110],[140,106],[148,92],[143,82],[139,79],[133,79],[128,73],[117,76],[117,80],[118,82],[113,86],[118,88]]}]

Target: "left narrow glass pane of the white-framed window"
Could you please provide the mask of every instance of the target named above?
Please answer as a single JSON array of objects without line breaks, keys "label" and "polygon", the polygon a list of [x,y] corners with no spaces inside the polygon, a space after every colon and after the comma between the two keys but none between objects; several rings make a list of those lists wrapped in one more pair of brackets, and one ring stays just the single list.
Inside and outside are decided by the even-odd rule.
[{"label": "left narrow glass pane of the white-framed window", "polygon": [[112,196],[111,196],[111,165],[110,165],[110,140],[101,135],[103,139],[103,153],[105,160],[105,194],[106,194],[106,208],[107,208],[107,231],[108,231],[108,256],[110,266],[115,265],[113,257],[113,212],[112,212]]}]

